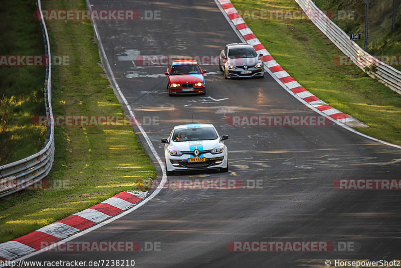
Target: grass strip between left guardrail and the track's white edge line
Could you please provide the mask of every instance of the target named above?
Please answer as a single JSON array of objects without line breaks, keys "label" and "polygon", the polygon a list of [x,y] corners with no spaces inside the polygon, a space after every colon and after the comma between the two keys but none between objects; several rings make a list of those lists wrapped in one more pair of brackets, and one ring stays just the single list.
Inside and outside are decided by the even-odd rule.
[{"label": "grass strip between left guardrail and the track's white edge line", "polygon": [[[43,2],[48,10],[85,10],[84,0]],[[32,16],[29,10],[26,16]],[[36,22],[38,23],[38,22]],[[55,115],[123,115],[100,65],[90,22],[47,22],[52,54],[70,66],[53,67]],[[41,44],[43,46],[43,43]],[[130,126],[55,127],[55,163],[46,190],[0,201],[0,242],[27,234],[121,191],[141,190],[156,171]]]}]

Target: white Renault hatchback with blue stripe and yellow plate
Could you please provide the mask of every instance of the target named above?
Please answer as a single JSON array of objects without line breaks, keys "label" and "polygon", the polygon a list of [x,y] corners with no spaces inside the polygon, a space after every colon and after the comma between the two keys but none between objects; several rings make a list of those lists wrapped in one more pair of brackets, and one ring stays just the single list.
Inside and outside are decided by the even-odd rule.
[{"label": "white Renault hatchback with blue stripe and yellow plate", "polygon": [[213,124],[183,124],[174,126],[164,143],[167,175],[182,170],[220,169],[229,171],[228,135],[219,136]]}]

